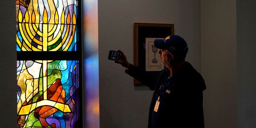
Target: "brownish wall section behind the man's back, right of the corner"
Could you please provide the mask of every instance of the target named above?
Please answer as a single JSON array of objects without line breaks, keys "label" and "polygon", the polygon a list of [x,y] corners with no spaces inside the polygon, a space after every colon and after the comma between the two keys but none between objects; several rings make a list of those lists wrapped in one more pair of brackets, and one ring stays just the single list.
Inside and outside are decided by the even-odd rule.
[{"label": "brownish wall section behind the man's back, right of the corner", "polygon": [[206,128],[236,128],[236,0],[201,0]]}]

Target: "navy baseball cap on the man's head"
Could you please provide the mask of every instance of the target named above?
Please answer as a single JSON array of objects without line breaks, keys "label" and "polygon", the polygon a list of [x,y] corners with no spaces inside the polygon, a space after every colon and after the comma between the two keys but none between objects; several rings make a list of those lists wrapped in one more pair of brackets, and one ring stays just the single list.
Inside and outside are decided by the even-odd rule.
[{"label": "navy baseball cap on the man's head", "polygon": [[186,54],[188,52],[188,44],[178,35],[170,35],[164,39],[154,40],[156,48],[169,50],[173,54]]}]

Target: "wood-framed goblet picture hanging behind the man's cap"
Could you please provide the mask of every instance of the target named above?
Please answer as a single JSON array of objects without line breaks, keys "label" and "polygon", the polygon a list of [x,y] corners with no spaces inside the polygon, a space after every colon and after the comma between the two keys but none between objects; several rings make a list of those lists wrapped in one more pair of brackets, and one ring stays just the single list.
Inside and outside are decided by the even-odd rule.
[{"label": "wood-framed goblet picture hanging behind the man's cap", "polygon": [[[164,39],[174,34],[174,24],[134,23],[134,65],[150,72],[164,68],[155,39]],[[143,85],[134,79],[134,86]]]}]

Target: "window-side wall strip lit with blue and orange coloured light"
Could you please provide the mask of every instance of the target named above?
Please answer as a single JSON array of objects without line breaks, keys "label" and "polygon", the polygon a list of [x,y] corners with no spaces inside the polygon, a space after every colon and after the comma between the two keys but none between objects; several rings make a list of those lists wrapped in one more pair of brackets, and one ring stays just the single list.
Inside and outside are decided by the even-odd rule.
[{"label": "window-side wall strip lit with blue and orange coloured light", "polygon": [[84,128],[100,128],[98,0],[83,0]]}]

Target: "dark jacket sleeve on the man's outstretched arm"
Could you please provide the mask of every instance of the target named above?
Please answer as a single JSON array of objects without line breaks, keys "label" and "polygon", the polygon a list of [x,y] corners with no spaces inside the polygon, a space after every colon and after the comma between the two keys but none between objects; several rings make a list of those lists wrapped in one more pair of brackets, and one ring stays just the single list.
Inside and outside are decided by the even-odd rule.
[{"label": "dark jacket sleeve on the man's outstretched arm", "polygon": [[154,90],[156,86],[156,82],[159,76],[159,72],[150,72],[140,69],[137,66],[130,65],[129,69],[125,70],[125,73],[132,76],[142,84],[145,84],[150,88],[150,90]]}]

